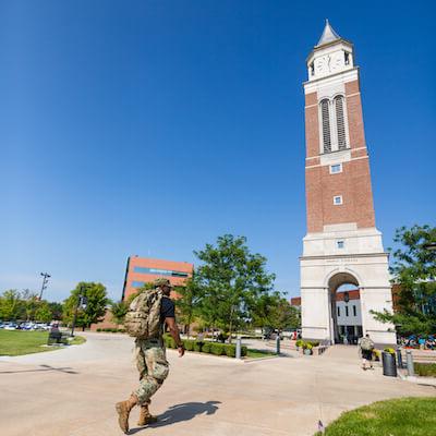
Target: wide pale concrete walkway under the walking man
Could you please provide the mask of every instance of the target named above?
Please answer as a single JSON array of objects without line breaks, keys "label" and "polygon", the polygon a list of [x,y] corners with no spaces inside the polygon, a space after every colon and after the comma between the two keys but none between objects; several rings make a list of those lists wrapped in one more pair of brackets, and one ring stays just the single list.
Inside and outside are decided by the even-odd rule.
[{"label": "wide pale concrete walkway under the walking man", "polygon": [[[0,359],[1,433],[9,436],[121,435],[113,404],[129,396],[137,374],[132,340],[87,334],[66,350]],[[363,372],[353,348],[323,356],[242,363],[168,350],[170,376],[152,409],[160,420],[131,434],[177,436],[311,436],[317,421],[402,396],[434,396],[435,387]]]}]

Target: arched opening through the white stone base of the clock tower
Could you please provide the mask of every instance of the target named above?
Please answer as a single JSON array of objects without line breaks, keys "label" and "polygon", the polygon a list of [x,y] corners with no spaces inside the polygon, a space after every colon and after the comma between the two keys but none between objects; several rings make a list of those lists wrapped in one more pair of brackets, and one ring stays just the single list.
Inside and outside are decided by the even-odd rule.
[{"label": "arched opening through the white stone base of the clock tower", "polygon": [[[349,290],[360,289],[361,283],[350,272],[336,272],[328,279],[328,299],[330,313],[330,340],[331,343],[355,342],[356,336],[362,332],[361,300],[359,305],[350,303]],[[354,291],[355,292],[355,291]],[[359,291],[358,291],[359,292]],[[338,295],[339,293],[339,295]],[[339,298],[340,296],[340,298]]]}]

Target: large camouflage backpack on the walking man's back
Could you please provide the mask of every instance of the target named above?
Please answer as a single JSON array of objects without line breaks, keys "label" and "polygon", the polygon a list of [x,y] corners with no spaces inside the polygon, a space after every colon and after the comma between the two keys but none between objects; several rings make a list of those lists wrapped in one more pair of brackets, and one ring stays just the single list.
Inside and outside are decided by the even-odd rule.
[{"label": "large camouflage backpack on the walking man's back", "polygon": [[135,338],[159,338],[161,335],[160,304],[162,292],[148,289],[141,292],[132,303],[124,317],[125,331]]}]

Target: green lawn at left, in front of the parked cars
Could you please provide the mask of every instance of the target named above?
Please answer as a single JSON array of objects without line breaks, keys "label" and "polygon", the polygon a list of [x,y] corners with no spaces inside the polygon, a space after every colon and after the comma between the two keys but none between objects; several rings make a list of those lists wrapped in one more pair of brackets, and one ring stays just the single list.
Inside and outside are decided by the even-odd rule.
[{"label": "green lawn at left, in front of the parked cars", "polygon": [[[61,347],[43,347],[47,344],[48,331],[0,330],[0,355],[22,355],[41,351],[59,350]],[[76,336],[72,344],[86,342]]]}]

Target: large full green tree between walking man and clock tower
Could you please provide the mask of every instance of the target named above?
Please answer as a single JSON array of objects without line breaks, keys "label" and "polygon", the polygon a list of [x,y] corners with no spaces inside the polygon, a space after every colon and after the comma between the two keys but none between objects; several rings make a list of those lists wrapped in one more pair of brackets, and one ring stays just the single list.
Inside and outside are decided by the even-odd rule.
[{"label": "large full green tree between walking man and clock tower", "polygon": [[250,317],[250,307],[267,294],[275,279],[266,271],[266,258],[252,254],[246,238],[225,234],[217,244],[206,244],[194,252],[203,264],[196,275],[203,295],[202,317],[211,327],[221,327],[231,334]]}]

